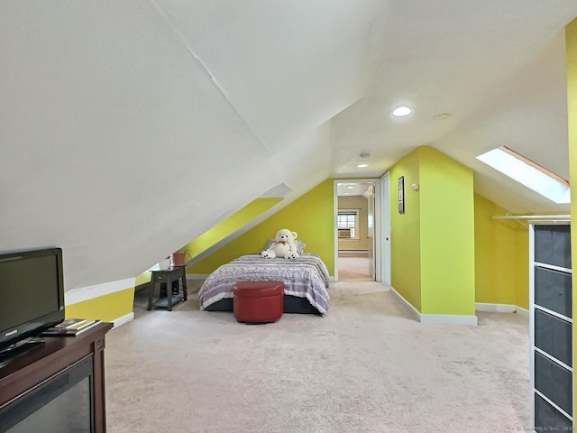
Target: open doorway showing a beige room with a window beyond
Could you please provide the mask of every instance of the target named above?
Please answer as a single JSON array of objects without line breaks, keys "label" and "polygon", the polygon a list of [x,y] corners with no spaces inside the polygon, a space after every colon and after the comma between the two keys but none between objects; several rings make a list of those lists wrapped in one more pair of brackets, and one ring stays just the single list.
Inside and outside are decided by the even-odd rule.
[{"label": "open doorway showing a beige room with a window beyond", "polygon": [[336,281],[376,281],[377,180],[335,181]]}]

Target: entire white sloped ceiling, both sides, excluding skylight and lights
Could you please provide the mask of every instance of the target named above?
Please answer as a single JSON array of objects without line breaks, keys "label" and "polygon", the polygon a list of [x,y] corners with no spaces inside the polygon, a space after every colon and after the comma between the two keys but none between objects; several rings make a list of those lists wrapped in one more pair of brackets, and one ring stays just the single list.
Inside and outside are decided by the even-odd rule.
[{"label": "entire white sloped ceiling, both sides, excluding skylight and lights", "polygon": [[[512,212],[566,211],[475,156],[505,144],[568,177],[575,16],[573,0],[2,2],[0,250],[62,246],[68,289],[130,278],[279,184],[289,200],[377,177],[421,144]],[[415,112],[394,121],[400,103]]]}]

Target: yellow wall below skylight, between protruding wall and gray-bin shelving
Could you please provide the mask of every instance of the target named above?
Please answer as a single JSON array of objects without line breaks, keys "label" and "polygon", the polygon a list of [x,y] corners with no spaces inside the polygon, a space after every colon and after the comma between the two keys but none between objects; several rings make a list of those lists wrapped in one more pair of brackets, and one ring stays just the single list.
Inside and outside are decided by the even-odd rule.
[{"label": "yellow wall below skylight, between protruding wall and gray-bin shelving", "polygon": [[478,194],[475,202],[475,301],[528,309],[528,230]]}]

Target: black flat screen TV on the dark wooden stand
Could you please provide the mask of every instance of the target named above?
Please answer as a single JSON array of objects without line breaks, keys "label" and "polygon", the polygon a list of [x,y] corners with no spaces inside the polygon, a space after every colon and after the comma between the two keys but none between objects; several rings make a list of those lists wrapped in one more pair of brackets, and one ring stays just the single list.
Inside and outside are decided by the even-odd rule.
[{"label": "black flat screen TV on the dark wooden stand", "polygon": [[63,319],[62,250],[0,254],[0,350]]}]

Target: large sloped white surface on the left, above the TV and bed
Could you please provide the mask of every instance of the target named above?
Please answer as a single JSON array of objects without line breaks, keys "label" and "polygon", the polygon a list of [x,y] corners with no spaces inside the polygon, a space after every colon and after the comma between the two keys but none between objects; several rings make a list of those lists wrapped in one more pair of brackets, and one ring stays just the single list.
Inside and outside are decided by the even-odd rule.
[{"label": "large sloped white surface on the left, above the TV and bed", "polygon": [[[294,198],[329,175],[326,121],[360,97],[360,57],[291,69],[280,32],[273,70],[250,11],[180,7],[0,4],[0,252],[62,247],[67,290],[132,278],[276,185]],[[301,42],[336,47],[347,26],[362,41],[367,12],[347,10],[340,28],[307,18]]]}]

